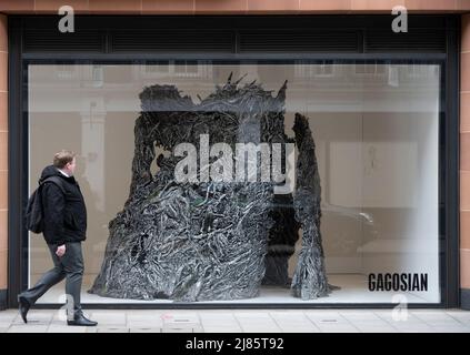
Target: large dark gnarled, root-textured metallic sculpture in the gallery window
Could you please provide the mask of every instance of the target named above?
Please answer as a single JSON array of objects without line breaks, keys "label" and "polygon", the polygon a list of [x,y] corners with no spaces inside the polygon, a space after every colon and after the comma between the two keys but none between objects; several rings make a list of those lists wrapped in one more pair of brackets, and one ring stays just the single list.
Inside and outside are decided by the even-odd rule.
[{"label": "large dark gnarled, root-textured metallic sculpture in the gallery window", "polygon": [[[109,223],[104,260],[91,293],[176,301],[254,297],[262,283],[289,285],[288,260],[302,227],[293,295],[328,295],[320,181],[304,118],[296,116],[293,197],[274,194],[272,182],[204,181],[213,158],[203,164],[199,156],[196,182],[176,181],[176,166],[183,159],[174,154],[179,143],[191,143],[199,152],[201,136],[233,151],[237,143],[290,141],[284,134],[286,83],[273,97],[256,82],[240,87],[239,81],[229,78],[199,104],[172,85],[148,87],[140,94],[130,194]],[[156,149],[166,153],[156,156]],[[157,173],[151,171],[154,161]]]}]

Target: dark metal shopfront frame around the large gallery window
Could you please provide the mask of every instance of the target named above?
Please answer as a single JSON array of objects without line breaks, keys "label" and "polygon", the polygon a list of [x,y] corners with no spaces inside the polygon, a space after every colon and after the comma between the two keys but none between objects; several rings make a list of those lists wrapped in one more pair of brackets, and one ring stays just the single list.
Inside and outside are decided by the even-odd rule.
[{"label": "dark metal shopfront frame around the large gallery window", "polygon": [[[214,63],[433,63],[441,68],[439,110],[439,270],[441,302],[459,306],[459,28],[457,16],[410,16],[409,34],[393,33],[389,16],[77,17],[61,34],[58,17],[9,18],[9,262],[8,305],[28,285],[28,77],[32,63],[130,64],[147,60]],[[122,26],[126,28],[122,28]],[[213,38],[211,38],[213,36]],[[208,40],[209,38],[209,40]],[[213,41],[212,41],[213,40]],[[38,307],[57,308],[58,304]],[[109,303],[88,308],[371,308],[379,303],[250,304]]]}]

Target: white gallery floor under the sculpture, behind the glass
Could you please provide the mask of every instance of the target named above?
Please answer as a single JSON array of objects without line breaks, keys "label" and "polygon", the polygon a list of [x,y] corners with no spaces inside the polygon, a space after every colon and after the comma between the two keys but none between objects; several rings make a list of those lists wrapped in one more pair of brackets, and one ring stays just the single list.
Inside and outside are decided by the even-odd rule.
[{"label": "white gallery floor under the sculpture, behind the glass", "polygon": [[[87,277],[82,287],[81,302],[83,304],[171,304],[173,301],[154,300],[154,301],[139,301],[139,300],[121,300],[101,297],[89,294],[87,290],[90,288],[94,277]],[[334,290],[328,297],[302,301],[291,296],[289,288],[263,286],[259,297],[236,300],[236,301],[210,301],[198,302],[198,304],[319,304],[319,303],[428,303],[428,301],[416,293],[402,293],[401,298],[397,300],[397,292],[370,292],[367,285],[367,276],[361,274],[330,274],[328,275],[331,285],[340,286],[340,290]],[[404,297],[403,297],[404,295]],[[53,288],[49,290],[40,300],[38,304],[63,304],[66,301],[64,282],[59,283]]]}]

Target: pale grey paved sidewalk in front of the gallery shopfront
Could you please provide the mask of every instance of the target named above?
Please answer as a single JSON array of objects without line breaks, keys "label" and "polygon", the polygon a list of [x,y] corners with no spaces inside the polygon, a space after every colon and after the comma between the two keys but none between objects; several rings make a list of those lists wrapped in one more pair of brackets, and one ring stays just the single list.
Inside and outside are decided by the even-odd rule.
[{"label": "pale grey paved sidewalk in front of the gallery shopfront", "polygon": [[[403,313],[406,312],[406,313]],[[88,310],[97,327],[66,325],[64,311],[0,312],[0,333],[470,333],[460,310]]]}]

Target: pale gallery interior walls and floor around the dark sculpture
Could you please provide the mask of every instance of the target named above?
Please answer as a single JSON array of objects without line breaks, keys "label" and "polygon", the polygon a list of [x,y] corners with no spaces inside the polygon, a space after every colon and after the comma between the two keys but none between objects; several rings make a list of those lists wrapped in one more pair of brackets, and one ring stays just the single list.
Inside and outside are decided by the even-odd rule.
[{"label": "pale gallery interior walls and floor around the dark sculpture", "polygon": [[[169,303],[156,294],[113,298],[86,292],[102,272],[109,222],[132,195],[134,126],[142,113],[139,95],[152,85],[173,85],[197,106],[229,78],[232,84],[239,81],[237,88],[259,85],[272,98],[287,81],[283,133],[293,140],[296,114],[307,118],[321,185],[324,270],[328,283],[337,287],[324,297],[292,296],[289,283],[302,248],[300,227],[297,242],[284,245],[292,251],[286,265],[268,248],[261,255],[267,265],[271,263],[269,267],[286,268],[287,283],[263,280],[256,296],[223,302],[392,303],[394,295],[402,294],[409,303],[439,303],[440,69],[427,62],[330,60],[29,64],[29,192],[57,151],[77,152],[76,176],[88,207],[82,302]],[[160,170],[160,153],[171,152],[156,146],[153,175]],[[296,171],[287,181],[296,194]],[[29,241],[32,285],[51,261],[41,236],[31,234]],[[132,254],[131,247],[128,252]],[[63,302],[63,286],[54,290],[39,302]]]}]

